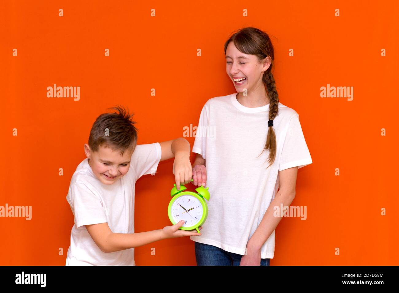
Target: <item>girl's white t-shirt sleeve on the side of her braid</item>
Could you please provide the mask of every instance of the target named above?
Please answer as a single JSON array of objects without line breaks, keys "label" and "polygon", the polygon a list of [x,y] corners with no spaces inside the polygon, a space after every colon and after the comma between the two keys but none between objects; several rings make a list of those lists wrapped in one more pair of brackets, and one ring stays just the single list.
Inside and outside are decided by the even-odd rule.
[{"label": "girl's white t-shirt sleeve on the side of her braid", "polygon": [[312,164],[312,158],[299,123],[299,115],[296,113],[288,124],[282,146],[279,171],[296,166],[299,169],[309,164]]}]

